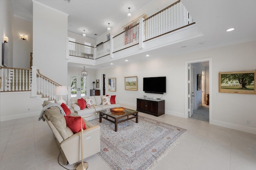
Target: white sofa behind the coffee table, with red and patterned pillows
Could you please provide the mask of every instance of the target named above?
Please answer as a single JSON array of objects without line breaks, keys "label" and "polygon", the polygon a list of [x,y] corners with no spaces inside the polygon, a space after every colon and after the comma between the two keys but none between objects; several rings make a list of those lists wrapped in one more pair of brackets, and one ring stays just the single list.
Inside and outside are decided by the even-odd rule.
[{"label": "white sofa behind the coffee table, with red and patterned pillows", "polygon": [[80,115],[81,117],[85,117],[87,121],[97,119],[99,117],[99,114],[94,115],[95,111],[98,113],[99,111],[105,110],[105,109],[112,109],[114,107],[121,107],[118,100],[116,100],[116,104],[111,104],[111,105],[102,105],[102,96],[89,96],[89,97],[83,97],[84,99],[86,98],[91,98],[93,101],[94,107],[89,108],[84,108],[80,109],[77,103],[78,98],[71,98],[71,107],[74,109],[74,111]]}]

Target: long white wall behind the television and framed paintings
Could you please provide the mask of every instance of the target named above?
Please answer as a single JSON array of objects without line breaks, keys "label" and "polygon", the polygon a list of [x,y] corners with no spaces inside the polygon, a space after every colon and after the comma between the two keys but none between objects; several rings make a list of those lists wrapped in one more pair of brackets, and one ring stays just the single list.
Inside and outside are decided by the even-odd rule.
[{"label": "long white wall behind the television and framed paintings", "polygon": [[[142,97],[143,77],[166,76],[165,113],[184,117],[184,63],[185,61],[212,58],[212,110],[213,124],[238,129],[256,134],[256,121],[254,103],[255,94],[229,94],[218,92],[218,73],[254,70],[256,63],[256,41],[230,45],[196,53],[177,55],[174,57],[146,60],[140,63],[126,64],[112,68],[98,70],[96,79],[100,79],[103,73],[107,78],[116,77],[116,92],[108,92],[109,95],[117,95],[123,104],[136,106],[136,98]],[[138,76],[138,91],[124,90],[124,76]],[[160,94],[146,94],[148,97],[161,97]],[[250,120],[250,124],[246,121]]]}]

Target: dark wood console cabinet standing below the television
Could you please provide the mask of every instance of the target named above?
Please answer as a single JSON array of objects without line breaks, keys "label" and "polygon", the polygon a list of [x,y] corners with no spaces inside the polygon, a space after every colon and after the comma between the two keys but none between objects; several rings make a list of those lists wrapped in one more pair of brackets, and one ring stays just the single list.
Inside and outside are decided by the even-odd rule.
[{"label": "dark wood console cabinet standing below the television", "polygon": [[164,100],[152,98],[137,98],[137,111],[148,113],[154,116],[164,114]]}]

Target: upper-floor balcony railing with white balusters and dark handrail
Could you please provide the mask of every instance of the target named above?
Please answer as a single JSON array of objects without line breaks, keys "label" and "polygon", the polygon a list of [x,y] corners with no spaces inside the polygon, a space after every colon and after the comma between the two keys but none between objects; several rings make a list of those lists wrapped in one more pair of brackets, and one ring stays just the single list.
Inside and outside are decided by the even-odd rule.
[{"label": "upper-floor balcony railing with white balusters and dark handrail", "polygon": [[110,40],[95,48],[69,41],[69,55],[86,59],[99,59],[134,45],[143,48],[143,43],[146,41],[194,23],[194,20],[179,0],[145,20],[140,19],[140,22],[136,25],[114,37],[110,37]]}]

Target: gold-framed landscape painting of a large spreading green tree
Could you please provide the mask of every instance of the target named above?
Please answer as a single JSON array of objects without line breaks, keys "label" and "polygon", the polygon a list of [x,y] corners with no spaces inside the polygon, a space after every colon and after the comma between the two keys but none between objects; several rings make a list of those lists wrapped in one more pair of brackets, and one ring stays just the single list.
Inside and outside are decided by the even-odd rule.
[{"label": "gold-framed landscape painting of a large spreading green tree", "polygon": [[219,73],[219,92],[256,94],[256,71]]}]

